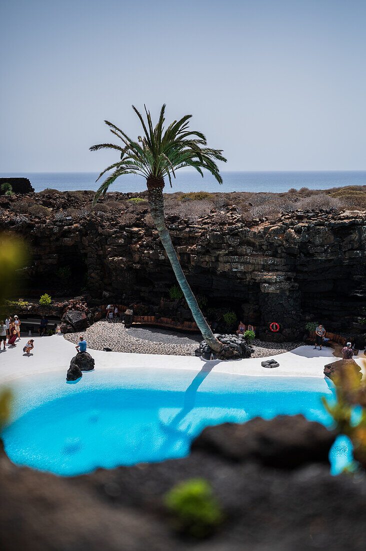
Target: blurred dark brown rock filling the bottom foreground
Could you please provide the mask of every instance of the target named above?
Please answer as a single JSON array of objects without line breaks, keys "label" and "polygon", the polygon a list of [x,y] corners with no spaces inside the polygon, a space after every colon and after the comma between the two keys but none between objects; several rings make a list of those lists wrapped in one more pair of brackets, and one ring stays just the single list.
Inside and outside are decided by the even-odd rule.
[{"label": "blurred dark brown rock filling the bottom foreground", "polygon": [[[297,415],[212,427],[188,457],[78,478],[19,468],[1,453],[0,549],[363,550],[365,478],[330,475],[333,435],[315,425]],[[286,453],[298,468],[287,460],[286,470]],[[202,541],[178,537],[162,504],[174,484],[196,477],[209,480],[226,516]]]}]

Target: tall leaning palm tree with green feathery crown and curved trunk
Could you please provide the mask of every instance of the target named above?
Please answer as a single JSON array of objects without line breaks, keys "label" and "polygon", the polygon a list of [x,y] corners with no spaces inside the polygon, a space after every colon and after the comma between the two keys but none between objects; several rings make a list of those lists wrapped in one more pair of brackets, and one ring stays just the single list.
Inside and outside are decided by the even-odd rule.
[{"label": "tall leaning palm tree with green feathery crown and curved trunk", "polygon": [[109,121],[105,121],[106,125],[110,127],[112,134],[117,136],[122,144],[102,143],[93,145],[90,148],[91,151],[115,149],[120,157],[116,163],[108,166],[99,175],[97,181],[103,174],[110,172],[110,175],[107,176],[106,180],[97,190],[94,204],[98,201],[100,195],[105,195],[111,183],[119,176],[123,174],[139,174],[146,178],[151,216],[172,264],[177,281],[183,291],[185,300],[204,339],[209,343],[212,350],[220,352],[222,344],[214,337],[199,309],[166,228],[164,222],[163,188],[165,186],[164,178],[168,178],[172,187],[172,176],[175,178],[176,171],[185,166],[192,166],[202,177],[203,170],[208,170],[219,183],[222,183],[222,177],[215,161],[226,163],[226,159],[222,155],[222,150],[206,147],[207,142],[203,133],[189,130],[188,122],[192,115],[185,115],[181,120],[173,121],[165,129],[165,105],[163,105],[159,121],[154,128],[151,122],[150,111],[146,110],[146,106],[146,122],[139,111],[134,106],[132,108],[139,117],[143,127],[142,137],[139,136],[138,140],[134,141],[117,126],[114,126]]}]

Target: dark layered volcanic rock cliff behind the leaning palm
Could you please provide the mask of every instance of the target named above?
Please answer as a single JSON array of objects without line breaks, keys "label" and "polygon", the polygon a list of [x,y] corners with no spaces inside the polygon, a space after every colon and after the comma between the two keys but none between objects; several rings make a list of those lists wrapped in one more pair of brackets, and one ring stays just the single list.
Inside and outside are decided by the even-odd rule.
[{"label": "dark layered volcanic rock cliff behind the leaning palm", "polygon": [[[44,196],[43,204],[53,200]],[[21,215],[12,203],[3,207],[0,230],[20,234],[30,246],[25,278],[35,294],[65,292],[57,278],[65,266],[69,293],[85,287],[91,304],[158,304],[175,283],[147,206],[129,217],[65,216],[55,207],[47,215]],[[195,222],[167,215],[166,223],[194,292],[263,332],[276,321],[281,338],[291,340],[307,320],[349,331],[366,305],[365,212],[298,210],[269,221],[244,219],[231,207]]]}]

